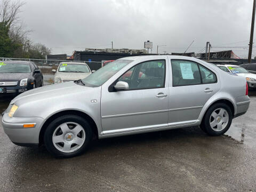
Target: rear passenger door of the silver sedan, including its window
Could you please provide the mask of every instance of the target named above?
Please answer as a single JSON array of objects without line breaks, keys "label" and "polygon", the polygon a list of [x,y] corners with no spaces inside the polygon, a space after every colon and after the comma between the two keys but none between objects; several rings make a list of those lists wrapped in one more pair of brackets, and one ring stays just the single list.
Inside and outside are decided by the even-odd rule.
[{"label": "rear passenger door of the silver sedan, including its window", "polygon": [[169,126],[196,123],[214,93],[219,90],[212,70],[190,60],[171,60]]}]

